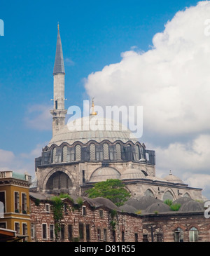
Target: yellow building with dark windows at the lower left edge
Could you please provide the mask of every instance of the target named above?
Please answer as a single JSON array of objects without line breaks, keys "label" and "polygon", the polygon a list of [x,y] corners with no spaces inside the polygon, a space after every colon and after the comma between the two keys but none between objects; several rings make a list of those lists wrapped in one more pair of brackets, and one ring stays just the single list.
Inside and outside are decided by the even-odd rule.
[{"label": "yellow building with dark windows at the lower left edge", "polygon": [[[31,176],[0,171],[0,228],[30,241],[29,186]],[[26,237],[26,238],[25,238]]]}]

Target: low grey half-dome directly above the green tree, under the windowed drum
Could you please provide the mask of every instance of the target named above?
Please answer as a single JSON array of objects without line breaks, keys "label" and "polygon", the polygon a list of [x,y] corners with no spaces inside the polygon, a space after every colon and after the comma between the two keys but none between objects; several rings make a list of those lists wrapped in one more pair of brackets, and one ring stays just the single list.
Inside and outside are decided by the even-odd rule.
[{"label": "low grey half-dome directly above the green tree, under the windowed drum", "polygon": [[89,182],[104,182],[109,179],[119,180],[120,173],[118,172],[118,170],[114,168],[102,167],[97,170],[94,170]]}]

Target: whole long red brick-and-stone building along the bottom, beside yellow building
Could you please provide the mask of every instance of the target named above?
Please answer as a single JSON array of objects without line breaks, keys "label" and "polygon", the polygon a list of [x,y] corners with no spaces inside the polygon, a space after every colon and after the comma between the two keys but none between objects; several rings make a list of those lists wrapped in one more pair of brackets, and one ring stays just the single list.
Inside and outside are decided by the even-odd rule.
[{"label": "whole long red brick-and-stone building along the bottom, beside yellow building", "polygon": [[[31,241],[55,241],[52,201],[31,196]],[[64,198],[57,241],[62,242],[209,242],[210,219],[204,208],[188,212],[128,213],[105,198]],[[159,203],[159,202],[158,202]],[[194,204],[197,202],[193,201]],[[153,204],[154,206],[154,204]],[[167,209],[167,207],[165,208]],[[160,210],[160,208],[159,208]]]}]

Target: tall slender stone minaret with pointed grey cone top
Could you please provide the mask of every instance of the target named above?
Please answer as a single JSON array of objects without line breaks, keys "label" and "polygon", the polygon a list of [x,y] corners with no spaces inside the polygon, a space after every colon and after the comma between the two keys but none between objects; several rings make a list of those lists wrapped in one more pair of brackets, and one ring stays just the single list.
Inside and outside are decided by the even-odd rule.
[{"label": "tall slender stone minaret with pointed grey cone top", "polygon": [[67,110],[64,107],[65,69],[62,43],[59,35],[59,24],[57,25],[57,46],[55,54],[55,65],[53,70],[54,79],[54,107],[50,110],[52,114],[52,136],[65,125]]}]

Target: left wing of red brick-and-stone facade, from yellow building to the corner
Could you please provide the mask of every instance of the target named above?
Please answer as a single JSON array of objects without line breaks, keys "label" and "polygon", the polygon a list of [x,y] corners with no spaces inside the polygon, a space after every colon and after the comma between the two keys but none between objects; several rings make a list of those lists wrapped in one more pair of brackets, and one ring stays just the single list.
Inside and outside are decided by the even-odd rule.
[{"label": "left wing of red brick-and-stone facade, from yellow building to the corner", "polygon": [[[36,198],[34,197],[36,196]],[[106,198],[83,198],[83,204],[63,199],[64,214],[57,241],[134,242],[141,237],[141,217],[121,211]],[[52,201],[31,196],[31,241],[55,241]]]}]

